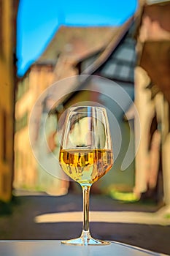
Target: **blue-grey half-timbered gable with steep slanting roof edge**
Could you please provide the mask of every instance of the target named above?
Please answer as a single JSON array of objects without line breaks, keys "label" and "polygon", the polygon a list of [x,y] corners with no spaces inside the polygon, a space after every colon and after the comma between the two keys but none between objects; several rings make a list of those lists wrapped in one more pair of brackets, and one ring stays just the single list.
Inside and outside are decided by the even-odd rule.
[{"label": "blue-grey half-timbered gable with steep slanting roof edge", "polygon": [[128,20],[117,30],[108,48],[82,59],[80,64],[77,64],[77,67],[81,65],[80,74],[96,75],[97,73],[111,80],[134,83],[136,64],[134,25],[133,19]]}]

